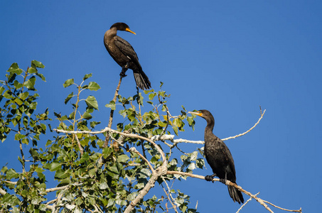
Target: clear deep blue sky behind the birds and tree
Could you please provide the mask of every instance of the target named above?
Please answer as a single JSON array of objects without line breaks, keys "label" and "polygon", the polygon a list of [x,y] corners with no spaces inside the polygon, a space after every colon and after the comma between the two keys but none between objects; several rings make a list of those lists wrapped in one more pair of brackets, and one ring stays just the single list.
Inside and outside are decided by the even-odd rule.
[{"label": "clear deep blue sky behind the birds and tree", "polygon": [[[31,60],[43,62],[47,82],[37,82],[38,109],[67,114],[63,102],[72,89],[63,82],[80,82],[92,72],[90,81],[102,88],[92,94],[103,129],[109,116],[104,105],[121,71],[103,35],[113,23],[125,22],[136,35],[118,35],[136,50],[152,87],[164,82],[171,114],[179,114],[181,105],[208,109],[214,133],[226,138],[254,125],[259,105],[267,109],[253,131],[226,141],[237,184],[281,207],[321,212],[321,11],[321,1],[1,1],[1,79],[13,62],[23,70]],[[119,91],[124,97],[136,91],[132,70],[127,74]],[[203,140],[205,121],[195,121],[195,131],[187,129],[180,138]],[[16,160],[18,143],[0,146],[1,165],[16,166],[8,159]],[[195,173],[210,175],[207,168]],[[175,187],[191,196],[190,207],[198,200],[199,212],[240,207],[218,182],[188,178]],[[252,201],[242,212],[267,210]]]}]

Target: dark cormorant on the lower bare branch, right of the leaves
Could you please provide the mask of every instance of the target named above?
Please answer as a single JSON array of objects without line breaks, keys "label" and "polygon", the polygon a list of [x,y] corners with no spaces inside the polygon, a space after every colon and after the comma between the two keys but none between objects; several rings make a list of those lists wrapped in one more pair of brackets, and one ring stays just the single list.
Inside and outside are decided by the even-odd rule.
[{"label": "dark cormorant on the lower bare branch, right of the leaves", "polygon": [[[226,180],[230,180],[236,183],[235,164],[232,154],[226,144],[213,134],[213,127],[215,126],[213,115],[205,109],[189,111],[189,113],[203,117],[207,121],[207,126],[205,127],[205,159],[213,169],[213,175],[205,176],[205,180],[212,181],[217,176],[221,182],[225,183]],[[228,185],[228,192],[234,202],[244,203],[240,190]]]}]

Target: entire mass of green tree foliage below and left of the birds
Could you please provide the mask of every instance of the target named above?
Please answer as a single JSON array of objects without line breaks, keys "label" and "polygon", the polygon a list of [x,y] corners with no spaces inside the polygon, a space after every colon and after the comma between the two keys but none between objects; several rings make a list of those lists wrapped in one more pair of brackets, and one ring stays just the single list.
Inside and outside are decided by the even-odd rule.
[{"label": "entire mass of green tree foliage below and left of the birds", "polygon": [[[89,133],[48,133],[45,122],[49,122],[48,109],[42,114],[35,114],[37,97],[36,77],[45,80],[37,68],[43,68],[41,62],[32,61],[27,71],[11,65],[6,80],[1,81],[0,102],[0,138],[1,141],[14,138],[20,146],[21,156],[18,157],[22,170],[4,166],[0,173],[0,211],[12,212],[51,212],[58,208],[60,212],[82,212],[83,210],[102,212],[123,212],[130,202],[139,195],[151,178],[151,170],[146,161],[138,154],[127,152],[129,147],[136,149],[149,160],[154,169],[162,165],[161,153],[147,141],[137,138],[123,138],[125,146],[118,148],[104,146],[104,134]],[[82,99],[83,91],[95,92],[100,89],[96,82],[86,83],[92,74],[85,75],[80,84],[73,79],[65,81],[64,87],[75,87],[75,93],[68,94],[65,104],[71,104],[71,111],[66,115],[54,113],[58,130],[63,131],[93,131],[100,121],[93,119],[93,114],[99,109],[94,96]],[[161,83],[162,86],[162,83]],[[106,107],[119,109],[124,117],[117,124],[118,131],[135,133],[136,135],[152,138],[165,134],[176,134],[184,131],[186,123],[194,126],[192,116],[186,109],[178,116],[171,116],[167,106],[170,95],[161,90],[144,91],[133,97],[119,95],[118,102],[109,102]],[[144,102],[144,97],[148,101]],[[147,104],[149,111],[144,111]],[[51,130],[50,124],[48,124]],[[11,136],[11,133],[14,133]],[[119,134],[109,135],[112,141],[121,139]],[[45,138],[45,139],[43,139]],[[46,141],[39,143],[38,141]],[[32,141],[31,144],[29,142]],[[159,144],[166,154],[168,170],[192,173],[195,168],[203,168],[203,158],[198,158],[199,152],[181,153],[176,144],[171,142]],[[26,160],[26,148],[28,158]],[[178,152],[176,152],[178,151]],[[180,154],[179,154],[180,153]],[[180,159],[180,160],[178,160]],[[28,168],[27,168],[28,165]],[[53,173],[53,175],[48,175]],[[58,185],[48,188],[55,182]],[[181,180],[181,175],[166,175],[158,182],[163,187],[164,181]],[[59,188],[58,188],[59,187]],[[50,196],[56,197],[50,200]],[[173,197],[157,197],[147,195],[136,204],[134,212],[157,212],[167,210],[166,202],[174,202],[182,212],[195,212],[189,209],[189,196],[180,190],[168,189]]]}]

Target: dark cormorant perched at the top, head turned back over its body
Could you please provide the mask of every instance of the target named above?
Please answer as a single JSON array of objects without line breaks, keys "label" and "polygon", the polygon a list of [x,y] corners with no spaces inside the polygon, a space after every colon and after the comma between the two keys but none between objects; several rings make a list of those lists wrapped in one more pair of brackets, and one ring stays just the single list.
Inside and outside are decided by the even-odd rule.
[{"label": "dark cormorant perched at the top, head turned back over its body", "polygon": [[140,89],[149,89],[151,87],[151,82],[149,77],[143,72],[142,67],[139,63],[139,58],[137,57],[132,45],[130,45],[126,40],[117,36],[117,31],[127,31],[136,35],[133,31],[129,29],[126,23],[114,23],[111,28],[104,34],[104,45],[109,55],[122,67],[122,72],[119,74],[121,77],[125,77],[125,72],[127,69],[133,70],[134,79],[136,86]]}]

